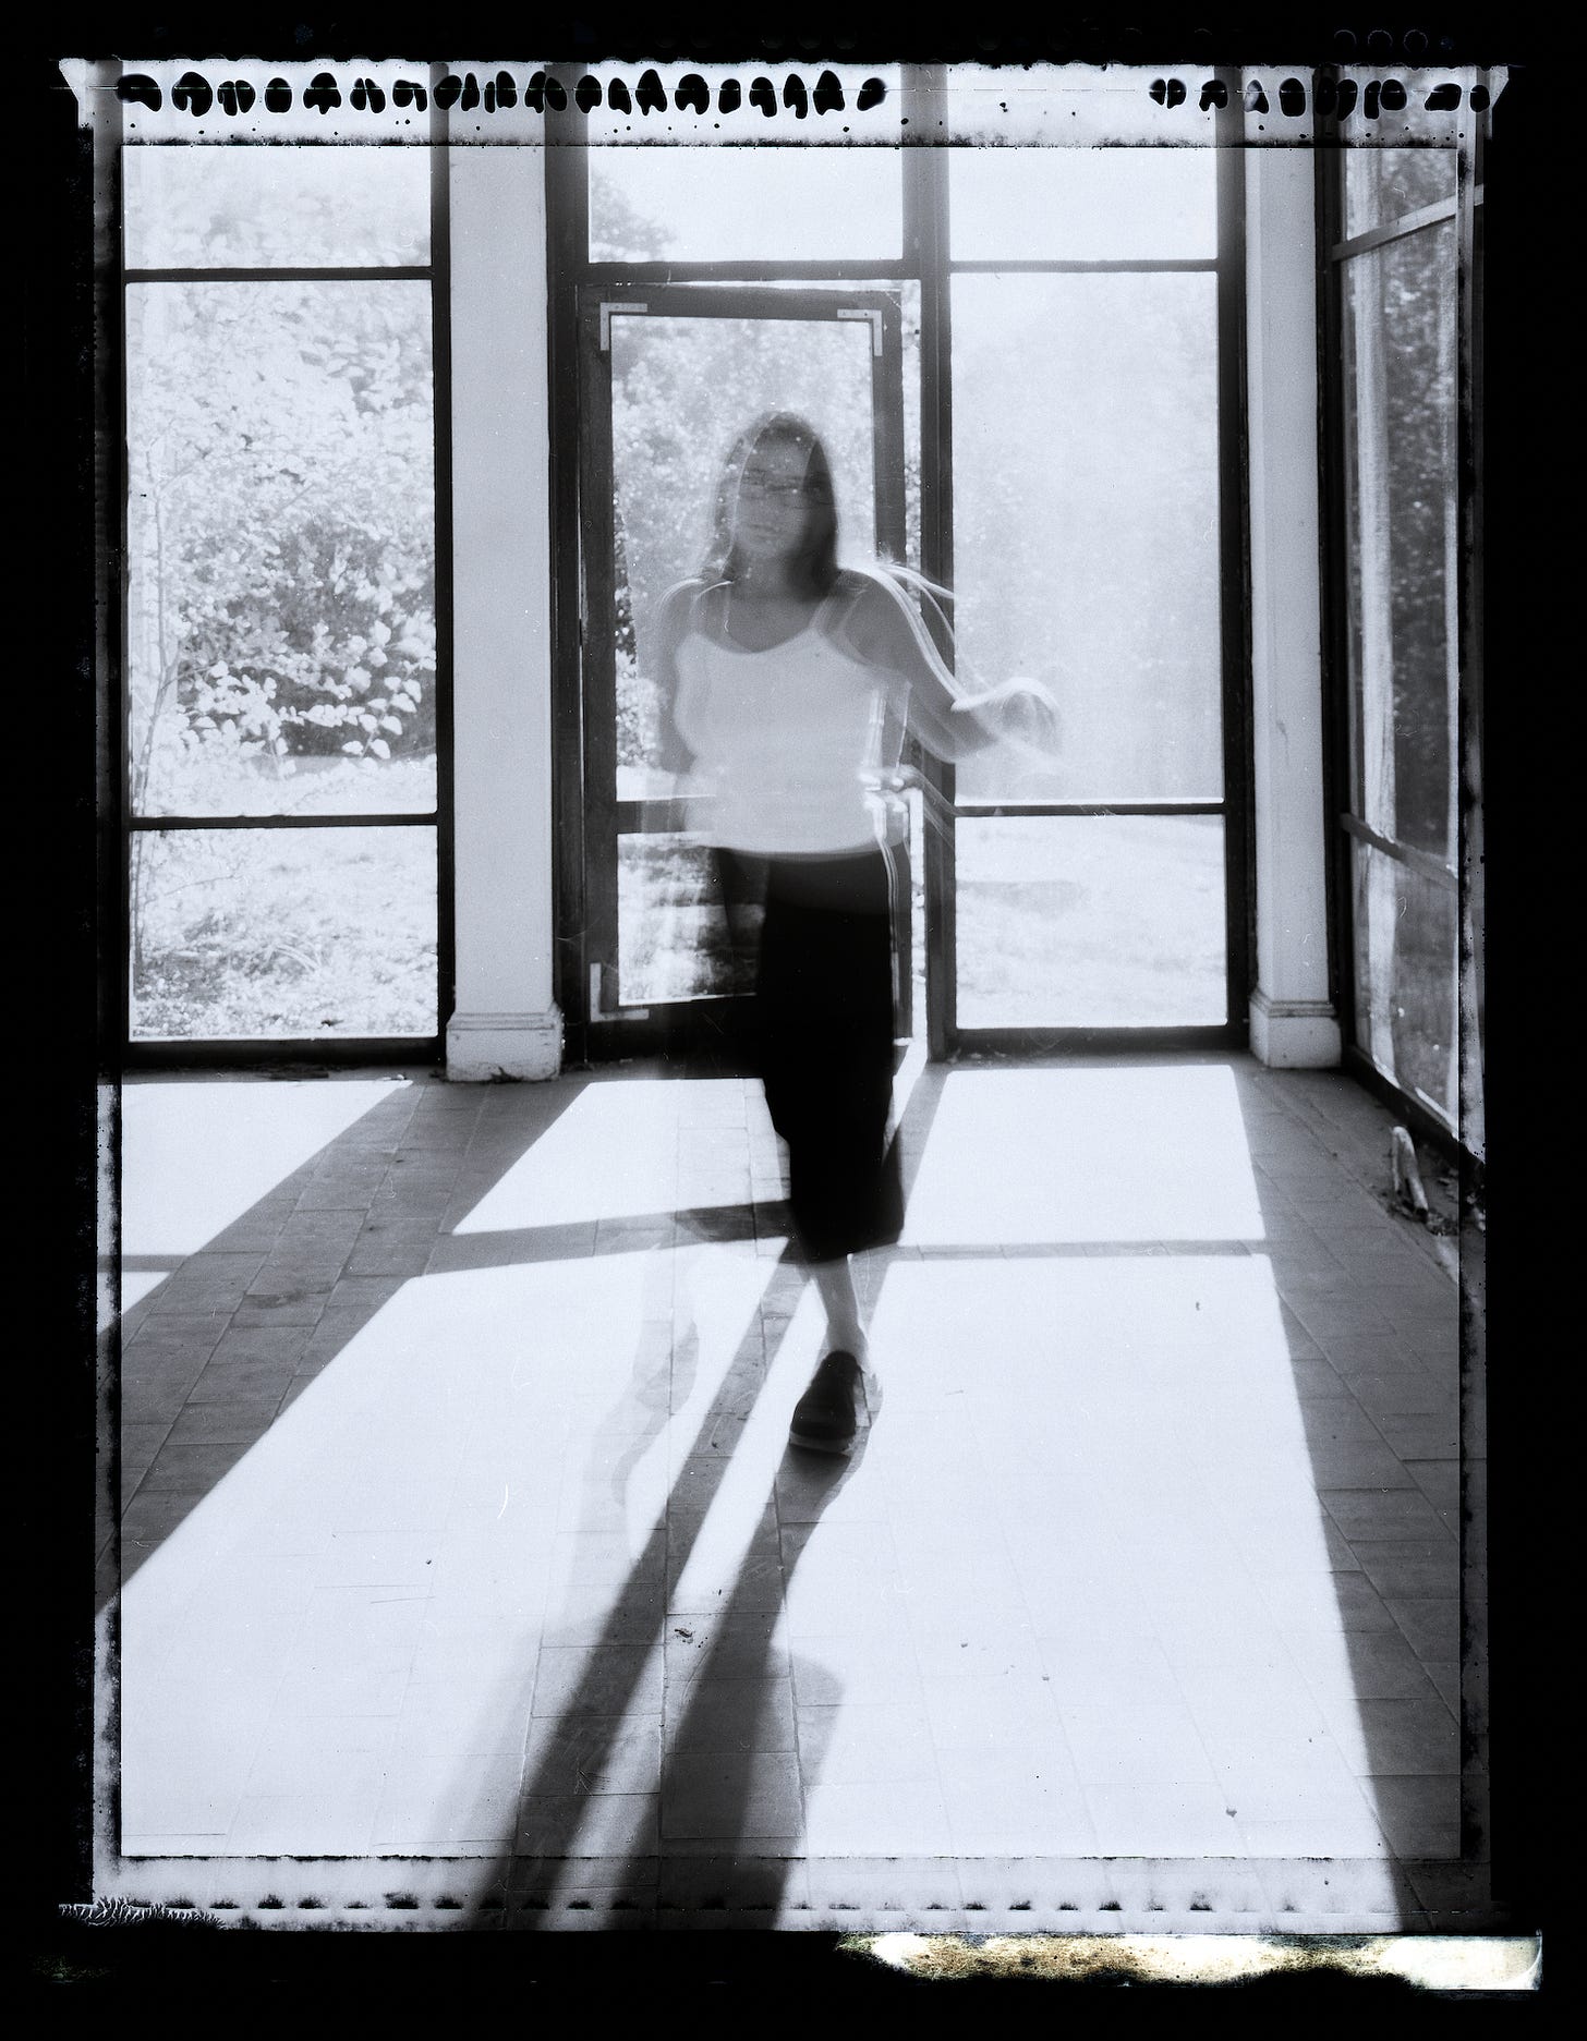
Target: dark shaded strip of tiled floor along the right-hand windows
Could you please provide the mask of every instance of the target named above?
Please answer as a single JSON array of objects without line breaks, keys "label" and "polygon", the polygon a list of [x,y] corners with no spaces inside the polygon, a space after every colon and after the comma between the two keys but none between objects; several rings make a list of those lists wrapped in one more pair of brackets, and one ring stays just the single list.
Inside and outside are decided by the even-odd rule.
[{"label": "dark shaded strip of tiled floor along the right-hand windows", "polygon": [[[1397,1859],[1460,1855],[1460,1441],[1454,1284],[1385,1186],[1340,1165],[1348,1129],[1285,1076],[1238,1084],[1264,1255],[1305,1429],[1362,1788]],[[1340,1086],[1346,1080],[1338,1080]],[[1364,1112],[1368,1108],[1354,1108]],[[1448,1292],[1446,1296],[1442,1292]],[[1448,1351],[1438,1329],[1448,1323]],[[1328,1672],[1326,1672],[1328,1676]],[[1346,1721],[1346,1731],[1348,1731]]]}]

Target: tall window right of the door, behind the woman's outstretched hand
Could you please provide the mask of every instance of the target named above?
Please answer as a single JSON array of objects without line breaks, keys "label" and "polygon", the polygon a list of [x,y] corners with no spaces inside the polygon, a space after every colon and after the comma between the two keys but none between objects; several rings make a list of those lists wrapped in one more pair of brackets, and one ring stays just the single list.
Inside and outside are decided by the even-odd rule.
[{"label": "tall window right of the door, behind the woman's outstretched hand", "polygon": [[944,157],[937,571],[960,678],[1044,682],[1060,745],[952,776],[933,1035],[1225,1041],[1248,994],[1238,153]]}]

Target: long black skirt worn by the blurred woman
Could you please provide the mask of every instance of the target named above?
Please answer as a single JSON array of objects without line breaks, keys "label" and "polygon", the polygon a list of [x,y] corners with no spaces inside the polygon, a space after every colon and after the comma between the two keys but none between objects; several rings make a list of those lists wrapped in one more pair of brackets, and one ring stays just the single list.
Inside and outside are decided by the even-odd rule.
[{"label": "long black skirt worn by the blurred woman", "polygon": [[811,1261],[891,1247],[903,1231],[891,1125],[903,851],[717,857],[729,925],[752,961],[750,1041],[788,1145],[799,1245]]}]

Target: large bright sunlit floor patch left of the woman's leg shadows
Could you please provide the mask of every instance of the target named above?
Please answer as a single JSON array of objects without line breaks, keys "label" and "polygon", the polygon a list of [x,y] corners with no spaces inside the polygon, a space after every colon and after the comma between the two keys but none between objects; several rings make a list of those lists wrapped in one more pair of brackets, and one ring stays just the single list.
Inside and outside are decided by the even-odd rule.
[{"label": "large bright sunlit floor patch left of the woman's leg shadows", "polygon": [[[664,1445],[629,1496],[672,1259],[404,1284],[172,1531],[123,1594],[127,1853],[500,1845],[470,1778],[523,1761],[547,1619],[598,1625],[666,1502]],[[768,1270],[684,1272],[696,1412]]]}]

